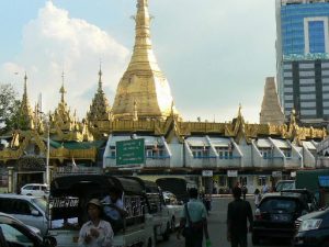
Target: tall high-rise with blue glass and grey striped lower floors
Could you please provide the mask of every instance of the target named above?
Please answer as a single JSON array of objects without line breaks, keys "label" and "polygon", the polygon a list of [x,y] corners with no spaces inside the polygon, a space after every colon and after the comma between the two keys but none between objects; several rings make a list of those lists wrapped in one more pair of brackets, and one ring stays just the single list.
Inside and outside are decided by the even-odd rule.
[{"label": "tall high-rise with blue glass and grey striped lower floors", "polygon": [[329,0],[276,0],[277,90],[286,120],[329,120]]}]

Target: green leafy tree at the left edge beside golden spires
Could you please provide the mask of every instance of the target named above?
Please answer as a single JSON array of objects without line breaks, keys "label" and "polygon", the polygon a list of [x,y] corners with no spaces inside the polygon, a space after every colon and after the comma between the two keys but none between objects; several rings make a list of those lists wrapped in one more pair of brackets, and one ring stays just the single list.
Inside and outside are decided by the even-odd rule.
[{"label": "green leafy tree at the left edge beside golden spires", "polygon": [[0,83],[0,134],[15,127],[20,112],[19,94],[11,83]]}]

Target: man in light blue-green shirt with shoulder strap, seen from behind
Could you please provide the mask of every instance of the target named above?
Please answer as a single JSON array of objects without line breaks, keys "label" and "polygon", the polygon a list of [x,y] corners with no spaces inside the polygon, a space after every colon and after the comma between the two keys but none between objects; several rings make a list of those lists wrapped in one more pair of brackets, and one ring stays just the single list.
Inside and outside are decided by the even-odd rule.
[{"label": "man in light blue-green shirt with shoulder strap, seen from behind", "polygon": [[189,190],[189,195],[190,200],[182,210],[177,238],[180,239],[182,234],[185,238],[185,247],[202,247],[203,235],[205,235],[206,246],[211,246],[206,209],[203,202],[197,200],[197,190],[195,188]]}]

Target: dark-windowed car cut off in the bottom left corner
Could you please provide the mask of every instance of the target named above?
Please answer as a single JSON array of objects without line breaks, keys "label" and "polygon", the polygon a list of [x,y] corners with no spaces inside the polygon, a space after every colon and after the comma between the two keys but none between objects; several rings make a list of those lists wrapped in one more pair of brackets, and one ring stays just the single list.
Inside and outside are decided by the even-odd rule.
[{"label": "dark-windowed car cut off in the bottom left corner", "polygon": [[0,213],[0,246],[54,247],[56,239],[50,236],[42,238],[33,227],[26,226],[11,215]]}]

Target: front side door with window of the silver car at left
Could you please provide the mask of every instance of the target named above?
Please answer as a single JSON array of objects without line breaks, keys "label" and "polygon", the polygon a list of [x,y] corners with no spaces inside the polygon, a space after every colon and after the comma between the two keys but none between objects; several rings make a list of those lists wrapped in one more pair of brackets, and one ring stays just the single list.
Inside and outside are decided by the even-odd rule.
[{"label": "front side door with window of the silver car at left", "polygon": [[[32,211],[38,212],[38,215],[33,215]],[[13,199],[12,215],[26,225],[34,226],[38,229],[43,228],[44,217],[42,213],[26,200]]]}]

